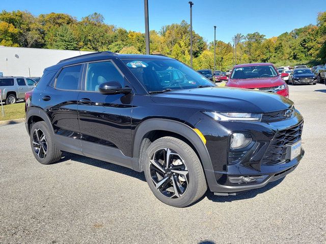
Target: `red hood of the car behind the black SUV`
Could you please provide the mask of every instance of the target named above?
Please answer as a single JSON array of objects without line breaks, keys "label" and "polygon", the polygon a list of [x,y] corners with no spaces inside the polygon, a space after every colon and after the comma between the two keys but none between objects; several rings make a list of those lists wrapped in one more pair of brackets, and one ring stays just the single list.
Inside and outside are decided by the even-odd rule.
[{"label": "red hood of the car behind the black SUV", "polygon": [[280,76],[266,78],[251,78],[251,79],[229,79],[226,86],[240,88],[264,88],[273,87],[285,84]]}]

